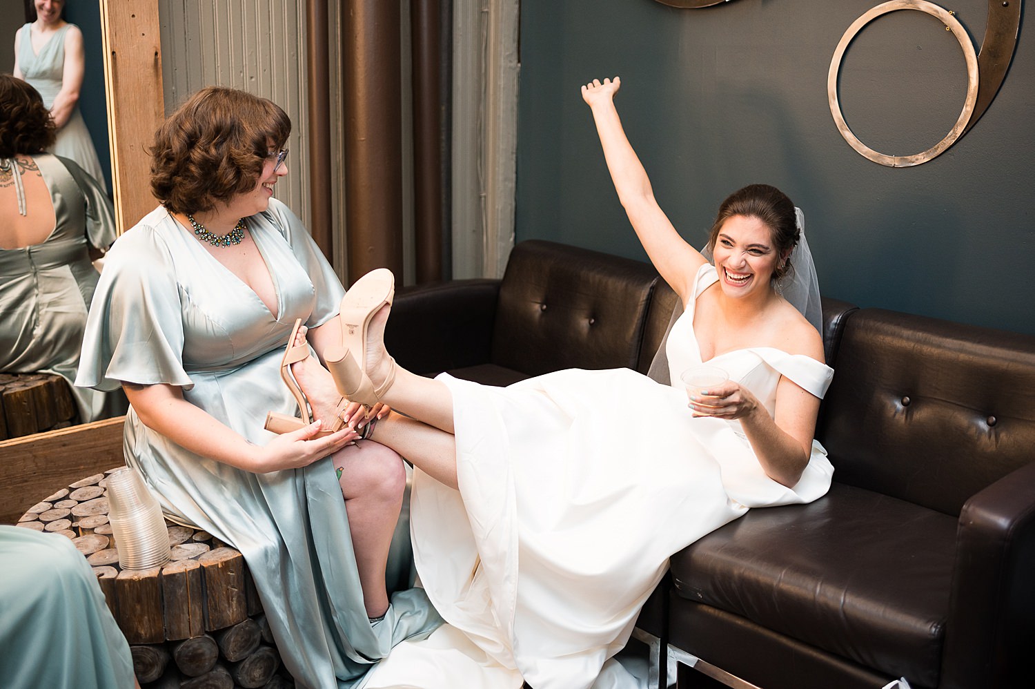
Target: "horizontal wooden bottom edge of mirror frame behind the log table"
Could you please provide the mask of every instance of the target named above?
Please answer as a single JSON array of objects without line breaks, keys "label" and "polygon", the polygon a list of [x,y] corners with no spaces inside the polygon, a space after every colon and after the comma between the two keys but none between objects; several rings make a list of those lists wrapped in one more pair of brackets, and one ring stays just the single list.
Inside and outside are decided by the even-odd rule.
[{"label": "horizontal wooden bottom edge of mirror frame behind the log table", "polygon": [[0,524],[13,524],[48,495],[125,464],[125,417],[0,441]]}]

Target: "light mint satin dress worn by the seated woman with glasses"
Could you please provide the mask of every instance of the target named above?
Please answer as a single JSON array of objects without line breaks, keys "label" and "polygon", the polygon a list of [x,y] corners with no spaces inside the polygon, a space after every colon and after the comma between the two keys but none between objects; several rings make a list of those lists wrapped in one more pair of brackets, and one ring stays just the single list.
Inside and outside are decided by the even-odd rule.
[{"label": "light mint satin dress worn by the seated woman with glasses", "polygon": [[[108,254],[78,384],[179,385],[184,399],[252,442],[272,439],[263,429],[266,412],[298,412],[278,375],[292,324],[329,320],[345,290],[283,203],[271,199],[268,210],[245,222],[273,279],[276,315],[159,207]],[[385,620],[371,626],[329,458],[252,473],[183,449],[131,408],[124,447],[126,462],[141,470],[171,519],[201,527],[244,555],[280,656],[301,686],[361,686],[395,643],[440,624],[423,591],[409,587],[404,518],[388,564],[397,591]]]}]

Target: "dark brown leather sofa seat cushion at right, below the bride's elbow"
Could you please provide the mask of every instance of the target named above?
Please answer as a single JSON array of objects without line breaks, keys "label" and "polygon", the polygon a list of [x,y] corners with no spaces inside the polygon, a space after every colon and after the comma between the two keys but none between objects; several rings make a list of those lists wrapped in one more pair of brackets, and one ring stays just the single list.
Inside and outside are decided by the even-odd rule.
[{"label": "dark brown leather sofa seat cushion at right, below the bride's elbow", "polygon": [[936,686],[955,534],[952,517],[834,483],[815,503],[752,510],[702,538],[672,574],[683,598]]}]

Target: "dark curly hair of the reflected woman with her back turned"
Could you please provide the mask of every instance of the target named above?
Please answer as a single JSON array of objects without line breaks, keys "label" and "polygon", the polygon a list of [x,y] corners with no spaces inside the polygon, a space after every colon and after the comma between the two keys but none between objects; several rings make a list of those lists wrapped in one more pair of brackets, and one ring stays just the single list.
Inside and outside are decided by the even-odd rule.
[{"label": "dark curly hair of the reflected woman with her back turned", "polygon": [[54,145],[57,130],[39,92],[0,75],[0,157],[41,153]]}]

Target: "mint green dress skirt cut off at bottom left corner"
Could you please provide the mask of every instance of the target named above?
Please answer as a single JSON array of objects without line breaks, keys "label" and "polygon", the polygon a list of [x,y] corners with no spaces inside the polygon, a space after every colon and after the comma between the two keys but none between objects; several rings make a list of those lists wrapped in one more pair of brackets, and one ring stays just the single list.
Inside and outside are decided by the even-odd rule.
[{"label": "mint green dress skirt cut off at bottom left corner", "polygon": [[129,644],[71,541],[0,525],[0,687],[132,686]]}]

